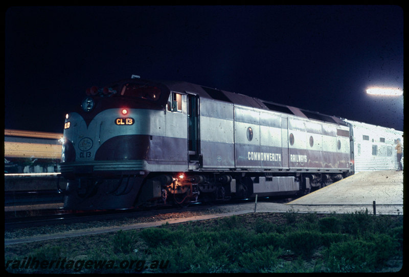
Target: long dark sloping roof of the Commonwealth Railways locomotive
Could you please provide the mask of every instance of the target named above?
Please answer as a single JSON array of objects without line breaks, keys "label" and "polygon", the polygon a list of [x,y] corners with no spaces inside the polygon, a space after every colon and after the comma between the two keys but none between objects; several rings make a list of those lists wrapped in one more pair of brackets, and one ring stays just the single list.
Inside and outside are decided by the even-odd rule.
[{"label": "long dark sloping roof of the Commonwealth Railways locomotive", "polygon": [[280,113],[292,114],[297,117],[302,117],[310,120],[319,120],[329,123],[334,123],[338,125],[347,124],[339,117],[328,116],[316,111],[309,111],[305,109],[300,109],[297,107],[292,107],[288,105],[277,104],[270,101],[261,100],[259,98],[250,97],[242,94],[232,93],[230,91],[211,88],[207,86],[201,86],[185,81],[163,81],[163,80],[145,80],[145,79],[131,79],[128,81],[147,81],[147,82],[157,82],[161,83],[169,88],[170,91],[175,91],[179,93],[194,93],[199,95],[200,98],[214,99],[218,101],[229,102],[236,105],[242,105],[252,108],[271,110]]}]

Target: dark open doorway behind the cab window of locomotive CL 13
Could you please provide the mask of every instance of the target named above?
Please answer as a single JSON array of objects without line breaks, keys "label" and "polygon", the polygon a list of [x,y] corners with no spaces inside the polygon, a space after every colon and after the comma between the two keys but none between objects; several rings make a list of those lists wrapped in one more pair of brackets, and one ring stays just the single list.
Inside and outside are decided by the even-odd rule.
[{"label": "dark open doorway behind the cab window of locomotive CL 13", "polygon": [[188,94],[189,167],[193,166],[193,169],[200,167],[202,164],[199,144],[199,97]]}]

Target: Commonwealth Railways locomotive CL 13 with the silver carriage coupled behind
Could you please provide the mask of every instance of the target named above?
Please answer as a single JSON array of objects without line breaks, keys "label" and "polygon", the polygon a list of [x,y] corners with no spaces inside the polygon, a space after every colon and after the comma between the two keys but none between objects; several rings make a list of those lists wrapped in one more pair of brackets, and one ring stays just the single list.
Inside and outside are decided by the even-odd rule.
[{"label": "Commonwealth Railways locomotive CL 13 with the silver carriage coupled behind", "polygon": [[65,209],[305,194],[396,169],[403,132],[178,81],[90,87],[66,114]]}]

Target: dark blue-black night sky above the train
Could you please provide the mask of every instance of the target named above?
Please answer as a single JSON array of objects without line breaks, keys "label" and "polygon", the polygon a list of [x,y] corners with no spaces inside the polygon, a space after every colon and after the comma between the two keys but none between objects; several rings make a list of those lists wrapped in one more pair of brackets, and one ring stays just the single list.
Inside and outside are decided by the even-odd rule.
[{"label": "dark blue-black night sky above the train", "polygon": [[12,7],[5,128],[63,131],[85,89],[187,81],[403,130],[399,6]]}]

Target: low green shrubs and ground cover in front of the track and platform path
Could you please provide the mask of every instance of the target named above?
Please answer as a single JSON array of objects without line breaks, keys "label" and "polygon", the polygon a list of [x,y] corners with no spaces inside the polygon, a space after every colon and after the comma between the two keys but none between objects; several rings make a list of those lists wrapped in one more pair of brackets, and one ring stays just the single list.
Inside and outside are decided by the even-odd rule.
[{"label": "low green shrubs and ground cover in front of the track and platform path", "polygon": [[402,256],[403,216],[368,210],[246,214],[5,247],[16,273],[384,272],[399,271]]}]

